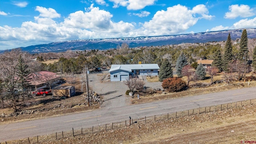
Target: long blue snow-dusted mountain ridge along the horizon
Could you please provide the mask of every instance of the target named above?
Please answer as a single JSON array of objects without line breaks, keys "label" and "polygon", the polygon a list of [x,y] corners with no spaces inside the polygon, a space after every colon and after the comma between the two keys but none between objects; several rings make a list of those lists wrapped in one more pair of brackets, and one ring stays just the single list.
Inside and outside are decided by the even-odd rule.
[{"label": "long blue snow-dusted mountain ridge along the horizon", "polygon": [[[248,38],[256,38],[256,28],[246,29]],[[69,40],[64,42],[52,42],[35,46],[22,47],[23,51],[30,53],[63,52],[66,50],[107,50],[116,48],[122,43],[127,43],[130,48],[140,46],[162,46],[181,43],[204,43],[212,41],[226,41],[228,33],[232,40],[240,38],[243,29],[221,30],[216,32],[200,32],[195,34],[179,34],[170,36],[141,36],[135,38],[104,38],[87,40]]]}]

